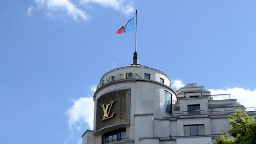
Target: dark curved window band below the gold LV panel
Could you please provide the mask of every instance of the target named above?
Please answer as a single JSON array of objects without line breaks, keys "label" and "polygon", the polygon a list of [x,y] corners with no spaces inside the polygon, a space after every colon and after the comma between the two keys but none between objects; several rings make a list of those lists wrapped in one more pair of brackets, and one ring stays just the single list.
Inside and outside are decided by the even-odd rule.
[{"label": "dark curved window band below the gold LV panel", "polygon": [[102,136],[103,143],[120,141],[126,138],[125,128],[110,131]]}]

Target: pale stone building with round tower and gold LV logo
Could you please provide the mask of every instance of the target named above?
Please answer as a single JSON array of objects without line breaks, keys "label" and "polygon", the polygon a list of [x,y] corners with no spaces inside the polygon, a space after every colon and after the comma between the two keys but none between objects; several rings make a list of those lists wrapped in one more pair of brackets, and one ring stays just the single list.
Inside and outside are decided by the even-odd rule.
[{"label": "pale stone building with round tower and gold LV logo", "polygon": [[138,64],[134,55],[133,64],[102,76],[94,130],[85,131],[83,144],[212,143],[230,128],[228,115],[245,108],[229,94],[211,95],[195,83],[174,91],[165,73]]}]

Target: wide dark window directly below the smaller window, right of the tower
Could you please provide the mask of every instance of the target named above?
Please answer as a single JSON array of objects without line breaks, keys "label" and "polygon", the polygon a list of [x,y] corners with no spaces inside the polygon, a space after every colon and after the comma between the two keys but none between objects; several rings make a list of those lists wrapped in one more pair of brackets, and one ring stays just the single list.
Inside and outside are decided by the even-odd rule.
[{"label": "wide dark window directly below the smaller window, right of the tower", "polygon": [[205,135],[205,125],[184,125],[184,136]]}]

